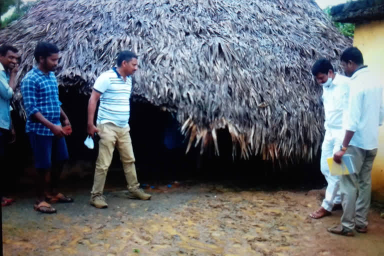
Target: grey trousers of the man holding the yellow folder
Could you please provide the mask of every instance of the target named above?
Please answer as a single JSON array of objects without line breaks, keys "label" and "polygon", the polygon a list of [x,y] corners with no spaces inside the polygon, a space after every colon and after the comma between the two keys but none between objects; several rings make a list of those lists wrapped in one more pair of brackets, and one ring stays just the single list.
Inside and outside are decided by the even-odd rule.
[{"label": "grey trousers of the man holding the yellow folder", "polygon": [[350,231],[355,226],[368,225],[367,214],[370,205],[372,186],[371,170],[377,148],[365,150],[356,146],[349,146],[345,154],[354,156],[356,173],[340,177],[340,194],[343,214],[341,224]]}]

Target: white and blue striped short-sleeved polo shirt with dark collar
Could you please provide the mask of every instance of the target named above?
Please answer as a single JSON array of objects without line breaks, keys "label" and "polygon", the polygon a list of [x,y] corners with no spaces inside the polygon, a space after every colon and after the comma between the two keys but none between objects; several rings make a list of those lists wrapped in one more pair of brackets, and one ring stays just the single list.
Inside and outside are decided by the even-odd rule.
[{"label": "white and blue striped short-sleeved polo shirt with dark collar", "polygon": [[120,127],[127,127],[132,78],[127,76],[124,81],[113,67],[97,77],[93,89],[101,93],[96,123],[111,122]]}]

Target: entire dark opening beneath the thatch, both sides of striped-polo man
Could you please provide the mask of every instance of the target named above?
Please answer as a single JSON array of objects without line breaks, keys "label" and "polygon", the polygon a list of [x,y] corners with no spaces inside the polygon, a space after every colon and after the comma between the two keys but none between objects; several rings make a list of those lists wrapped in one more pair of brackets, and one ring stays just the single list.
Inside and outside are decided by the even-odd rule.
[{"label": "entire dark opening beneath the thatch, both sides of striped-polo man", "polygon": [[[76,86],[59,88],[60,101],[69,116],[73,130],[73,133],[66,138],[70,154],[68,169],[69,171],[75,169],[75,172],[79,172],[75,176],[86,175],[86,181],[92,182],[98,148],[90,150],[83,145],[86,137],[89,95],[79,94]],[[263,161],[257,156],[247,160],[233,159],[232,142],[225,129],[217,131],[219,156],[214,155],[213,147],[207,147],[203,155],[199,154],[199,147],[191,147],[185,154],[187,141],[184,141],[179,126],[171,113],[162,111],[159,107],[147,102],[132,100],[130,127],[139,180],[229,180],[250,186],[298,187],[306,184],[308,188],[324,184],[319,171],[319,159],[315,159],[310,164],[290,164],[282,168],[273,166],[271,162]],[[33,157],[28,150],[29,144],[23,132],[23,123],[18,120],[16,127],[18,140],[17,144],[13,145],[13,150],[21,152],[21,148],[23,157],[29,159],[13,161],[17,163],[17,169],[20,169],[17,172],[19,178],[25,176],[23,169],[27,172],[32,169]],[[110,172],[116,174],[111,175],[122,178],[120,168],[118,151],[115,150]],[[114,171],[116,169],[119,171]]]}]

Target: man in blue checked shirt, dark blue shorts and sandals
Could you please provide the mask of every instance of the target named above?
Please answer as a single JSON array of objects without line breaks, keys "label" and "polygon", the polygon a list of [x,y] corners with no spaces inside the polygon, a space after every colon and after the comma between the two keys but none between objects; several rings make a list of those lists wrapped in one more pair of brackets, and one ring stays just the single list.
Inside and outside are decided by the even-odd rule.
[{"label": "man in blue checked shirt, dark blue shorts and sandals", "polygon": [[[34,50],[37,66],[33,67],[21,81],[21,93],[27,115],[25,131],[28,133],[35,167],[37,170],[37,202],[34,209],[43,213],[54,213],[50,203],[72,202],[73,199],[56,191],[63,163],[68,159],[61,126],[69,126],[69,120],[58,100],[58,84],[53,70],[59,58],[59,49],[48,42],[39,42]],[[51,170],[50,189],[47,192],[45,173]]]}]

